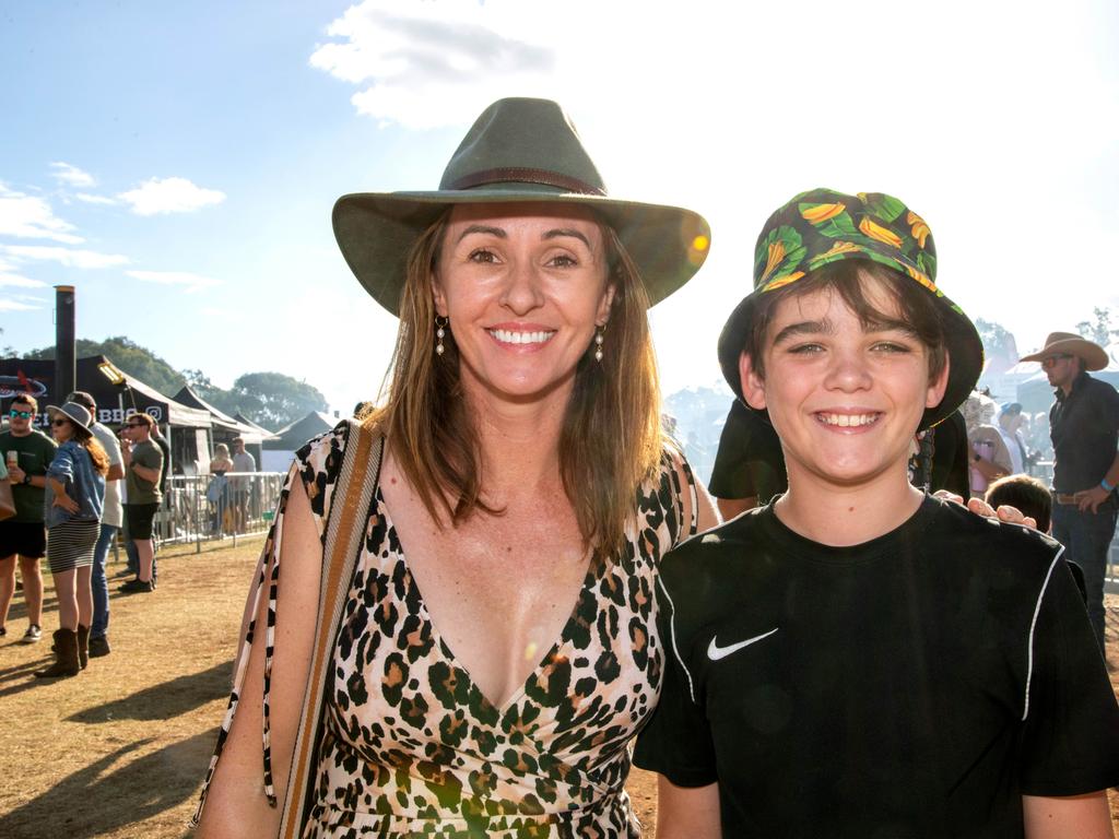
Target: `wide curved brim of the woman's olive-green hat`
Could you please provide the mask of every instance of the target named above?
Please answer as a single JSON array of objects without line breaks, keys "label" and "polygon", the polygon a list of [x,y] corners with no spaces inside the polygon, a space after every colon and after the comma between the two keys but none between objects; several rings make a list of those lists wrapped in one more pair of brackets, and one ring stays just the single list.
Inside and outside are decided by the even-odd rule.
[{"label": "wide curved brim of the woman's olive-green hat", "polygon": [[448,208],[462,204],[538,201],[589,207],[610,225],[637,265],[649,295],[660,302],[703,265],[711,227],[681,207],[517,185],[431,192],[355,192],[335,204],[335,238],[354,275],[382,307],[399,314],[408,253]]}]

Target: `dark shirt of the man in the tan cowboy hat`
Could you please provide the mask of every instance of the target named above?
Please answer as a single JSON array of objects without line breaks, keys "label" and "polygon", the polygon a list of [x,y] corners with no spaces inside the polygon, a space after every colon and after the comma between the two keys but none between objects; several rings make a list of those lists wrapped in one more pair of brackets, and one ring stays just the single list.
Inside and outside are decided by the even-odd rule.
[{"label": "dark shirt of the man in the tan cowboy hat", "polygon": [[1050,408],[1053,439],[1053,488],[1079,492],[1100,483],[1116,459],[1119,442],[1119,392],[1087,373],[1065,396],[1057,388]]}]

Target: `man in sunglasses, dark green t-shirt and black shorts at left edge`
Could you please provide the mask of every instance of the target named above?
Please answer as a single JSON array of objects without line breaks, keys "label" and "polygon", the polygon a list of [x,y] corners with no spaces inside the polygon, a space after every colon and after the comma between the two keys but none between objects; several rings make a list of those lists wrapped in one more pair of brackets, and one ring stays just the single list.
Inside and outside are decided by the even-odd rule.
[{"label": "man in sunglasses, dark green t-shirt and black shorts at left edge", "polygon": [[0,433],[16,515],[0,521],[0,638],[8,634],[8,607],[16,592],[16,563],[23,581],[27,632],[22,643],[43,638],[43,572],[39,560],[47,555],[43,496],[47,468],[55,458],[55,442],[36,430],[39,404],[30,394],[17,394],[8,409],[8,431]]}]

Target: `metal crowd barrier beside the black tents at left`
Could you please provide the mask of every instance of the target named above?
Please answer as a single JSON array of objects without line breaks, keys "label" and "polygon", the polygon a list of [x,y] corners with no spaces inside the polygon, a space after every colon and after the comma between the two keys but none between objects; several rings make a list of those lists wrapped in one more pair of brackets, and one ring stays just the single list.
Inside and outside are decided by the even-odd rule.
[{"label": "metal crowd barrier beside the black tents at left", "polygon": [[282,472],[227,472],[225,475],[168,475],[154,531],[162,545],[233,539],[262,534],[272,524]]}]

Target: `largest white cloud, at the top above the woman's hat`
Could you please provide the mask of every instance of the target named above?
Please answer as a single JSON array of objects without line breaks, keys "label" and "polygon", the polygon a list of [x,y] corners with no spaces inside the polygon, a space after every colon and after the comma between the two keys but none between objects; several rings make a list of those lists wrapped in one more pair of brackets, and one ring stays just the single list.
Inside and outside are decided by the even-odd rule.
[{"label": "largest white cloud, at the top above the woman's hat", "polygon": [[320,45],[311,66],[366,85],[351,97],[358,113],[413,129],[470,122],[511,87],[552,86],[555,72],[539,26],[520,26],[508,4],[367,0],[327,34],[338,40]]}]

